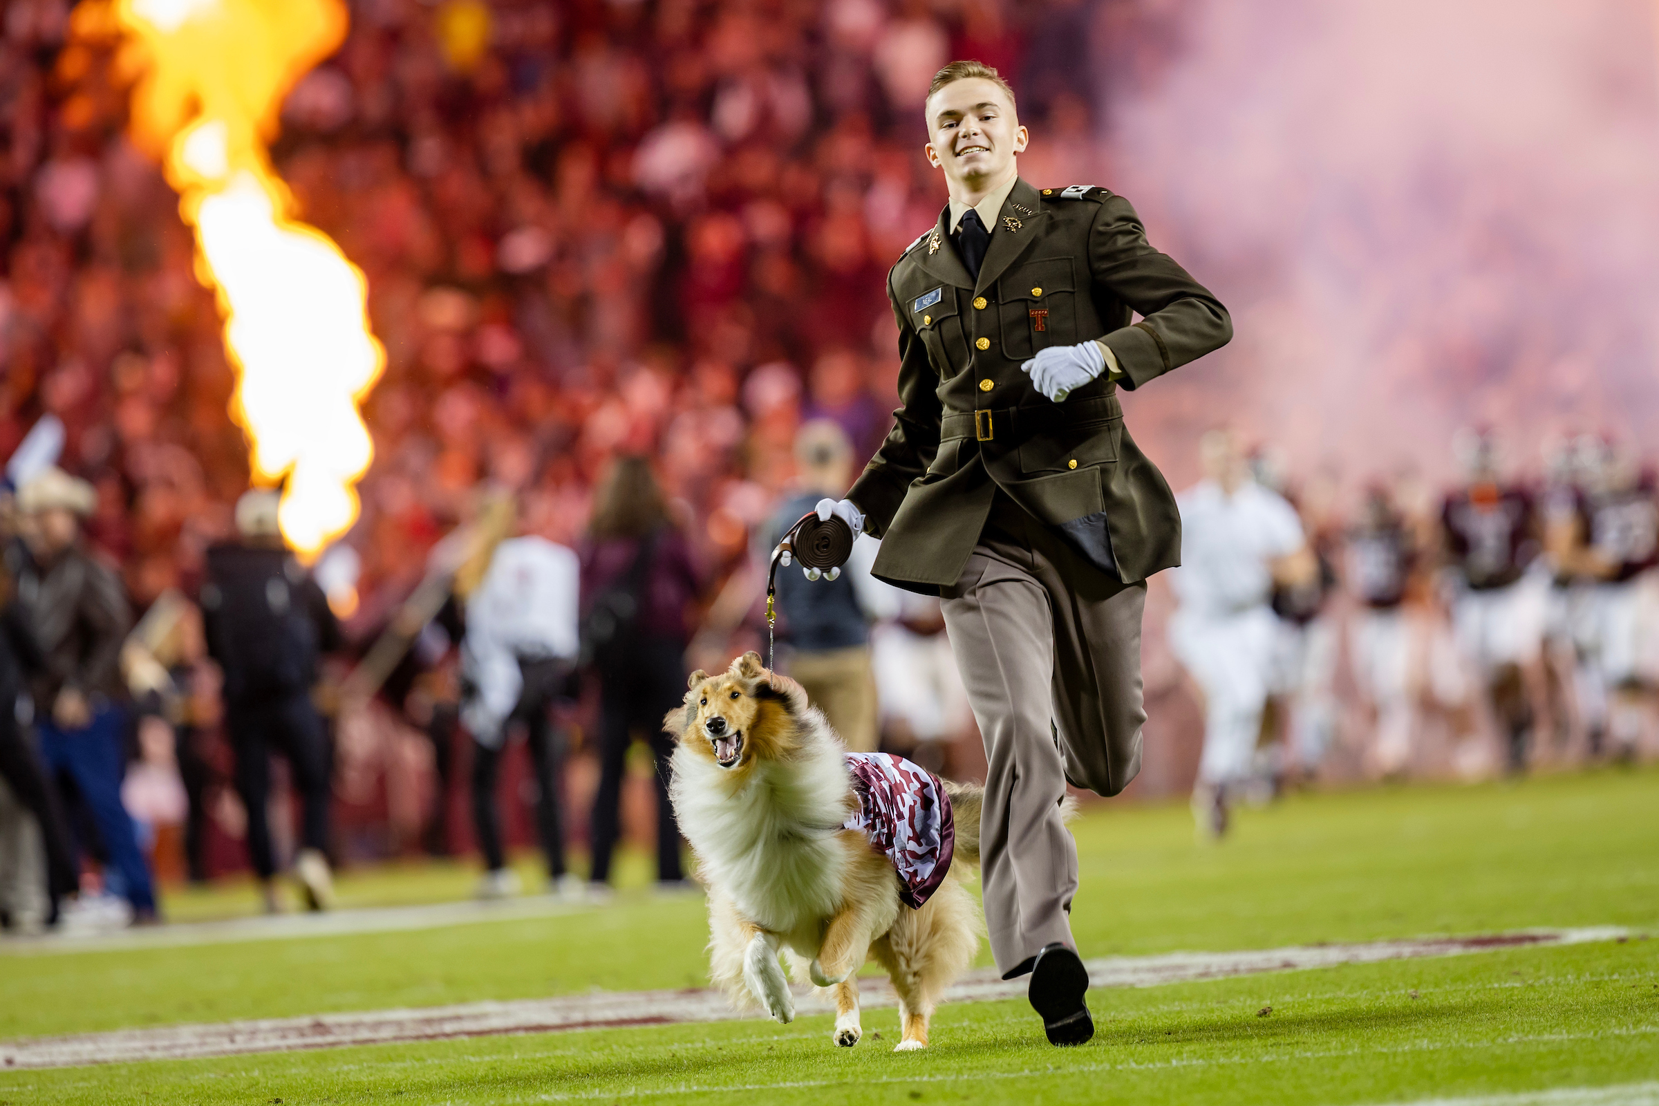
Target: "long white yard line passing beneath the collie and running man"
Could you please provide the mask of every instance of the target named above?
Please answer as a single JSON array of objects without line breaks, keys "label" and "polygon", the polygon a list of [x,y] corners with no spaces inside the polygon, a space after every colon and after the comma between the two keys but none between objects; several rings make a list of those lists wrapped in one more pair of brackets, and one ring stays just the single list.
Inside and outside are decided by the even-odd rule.
[{"label": "long white yard line passing beneath the collie and running man", "polygon": [[[1453,957],[1498,948],[1573,945],[1629,937],[1623,927],[1520,930],[1480,937],[1423,937],[1355,945],[1294,945],[1244,952],[1176,952],[1156,957],[1105,957],[1088,962],[1092,987],[1156,987],[1262,972],[1326,968],[1339,963],[1379,963],[1417,957]],[[969,972],[946,1002],[994,1002],[1025,995],[1025,980],[1000,980],[994,970]],[[861,1005],[893,1007],[898,998],[884,978],[859,978]],[[828,1008],[801,995],[801,1013]],[[219,1025],[169,1025],[0,1043],[0,1070],[71,1068],[136,1060],[187,1060],[275,1053],[302,1048],[387,1045],[455,1040],[503,1033],[554,1033],[601,1026],[727,1021],[753,1016],[733,1011],[708,990],[614,992],[476,1002],[416,1010],[324,1013],[305,1018],[262,1018]]]}]

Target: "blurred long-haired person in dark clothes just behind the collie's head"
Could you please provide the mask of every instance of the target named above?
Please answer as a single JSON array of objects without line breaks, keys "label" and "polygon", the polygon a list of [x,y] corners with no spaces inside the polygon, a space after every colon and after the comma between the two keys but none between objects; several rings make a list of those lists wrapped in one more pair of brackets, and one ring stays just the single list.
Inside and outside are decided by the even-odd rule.
[{"label": "blurred long-haired person in dark clothes just behind the collie's head", "polygon": [[634,738],[650,745],[657,786],[657,879],[685,877],[680,827],[669,803],[674,741],[664,716],[685,698],[687,612],[702,580],[680,527],[669,519],[650,463],[617,458],[594,502],[582,546],[582,660],[599,677],[599,791],[589,879],[611,879],[622,776]]}]

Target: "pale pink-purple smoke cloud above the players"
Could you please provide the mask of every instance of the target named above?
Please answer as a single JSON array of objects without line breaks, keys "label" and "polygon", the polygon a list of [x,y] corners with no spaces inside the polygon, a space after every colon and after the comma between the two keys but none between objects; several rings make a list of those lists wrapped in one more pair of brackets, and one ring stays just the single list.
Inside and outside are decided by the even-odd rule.
[{"label": "pale pink-purple smoke cloud above the players", "polygon": [[[1649,0],[1194,0],[1120,91],[1115,179],[1233,310],[1128,396],[1171,483],[1234,421],[1292,471],[1513,468],[1659,415],[1659,30]],[[1121,83],[1118,85],[1121,90]]]}]

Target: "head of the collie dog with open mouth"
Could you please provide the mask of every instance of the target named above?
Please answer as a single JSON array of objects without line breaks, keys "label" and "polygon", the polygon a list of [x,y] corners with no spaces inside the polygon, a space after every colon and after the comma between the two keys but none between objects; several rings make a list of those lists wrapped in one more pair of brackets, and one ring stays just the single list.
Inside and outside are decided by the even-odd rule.
[{"label": "head of the collie dog with open mouth", "polygon": [[692,753],[727,771],[775,758],[791,731],[790,688],[748,652],[718,675],[693,672],[685,706],[667,718],[669,730]]}]

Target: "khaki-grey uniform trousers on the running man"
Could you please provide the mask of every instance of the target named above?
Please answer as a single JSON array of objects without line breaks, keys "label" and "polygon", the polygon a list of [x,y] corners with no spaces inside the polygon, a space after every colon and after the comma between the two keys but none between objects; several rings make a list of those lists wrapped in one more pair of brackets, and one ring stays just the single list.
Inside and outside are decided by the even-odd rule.
[{"label": "khaki-grey uniform trousers on the running man", "polygon": [[1117,794],[1140,771],[1146,584],[1120,584],[1002,494],[946,632],[985,741],[980,876],[997,968],[1072,940],[1077,842],[1065,784]]}]

